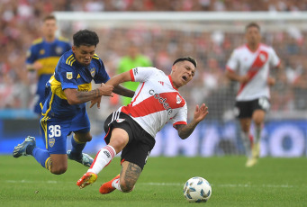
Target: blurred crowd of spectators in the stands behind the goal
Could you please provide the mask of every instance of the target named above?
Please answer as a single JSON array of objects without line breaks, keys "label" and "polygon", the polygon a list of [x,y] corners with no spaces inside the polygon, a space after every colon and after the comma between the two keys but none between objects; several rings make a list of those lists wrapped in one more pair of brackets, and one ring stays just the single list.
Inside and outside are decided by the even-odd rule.
[{"label": "blurred crowd of spectators in the stands behind the goal", "polygon": [[[306,0],[1,0],[0,46],[3,55],[0,56],[0,109],[32,107],[35,76],[25,69],[26,50],[32,40],[41,36],[42,18],[54,11],[286,12],[306,9]],[[63,31],[70,40],[73,32]],[[129,41],[137,43],[140,53],[148,56],[154,67],[166,73],[169,73],[175,58],[193,56],[199,63],[199,69],[194,82],[182,91],[187,103],[191,106],[207,103],[212,118],[231,117],[238,85],[225,78],[224,69],[231,51],[244,43],[244,25],[241,31],[230,33],[162,28],[102,28],[97,32],[101,41],[96,53],[103,58],[111,76],[119,59],[126,54]],[[272,71],[277,79],[272,88],[273,112],[307,110],[305,36],[306,31],[297,30],[263,33],[264,43],[271,45],[283,62],[280,72]],[[110,104],[117,107],[119,102],[111,101]]]}]

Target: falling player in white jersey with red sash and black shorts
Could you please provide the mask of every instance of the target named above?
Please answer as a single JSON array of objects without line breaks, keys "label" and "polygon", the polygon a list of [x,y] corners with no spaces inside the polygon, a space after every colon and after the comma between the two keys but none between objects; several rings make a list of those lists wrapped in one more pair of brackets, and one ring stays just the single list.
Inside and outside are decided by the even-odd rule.
[{"label": "falling player in white jersey with red sash and black shorts", "polygon": [[156,133],[167,121],[173,124],[181,139],[190,136],[197,124],[207,115],[208,108],[204,103],[201,106],[196,105],[194,118],[187,123],[185,99],[177,89],[193,79],[195,68],[194,58],[177,58],[169,76],[156,67],[135,67],[113,76],[105,84],[140,82],[131,103],[120,107],[104,122],[104,140],[108,145],[97,153],[92,166],[77,181],[80,188],[93,184],[104,166],[122,151],[121,174],[102,184],[99,192],[111,193],[115,189],[131,192],[155,145]]}]

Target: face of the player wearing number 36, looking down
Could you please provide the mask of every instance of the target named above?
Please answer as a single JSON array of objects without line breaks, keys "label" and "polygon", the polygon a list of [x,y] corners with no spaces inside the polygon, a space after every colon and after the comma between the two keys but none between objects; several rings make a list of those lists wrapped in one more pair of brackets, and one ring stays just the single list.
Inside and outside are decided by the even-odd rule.
[{"label": "face of the player wearing number 36, looking down", "polygon": [[76,46],[72,47],[77,62],[83,66],[88,66],[91,63],[92,58],[95,55],[95,49],[96,49],[95,45],[92,46],[81,45],[80,47]]}]

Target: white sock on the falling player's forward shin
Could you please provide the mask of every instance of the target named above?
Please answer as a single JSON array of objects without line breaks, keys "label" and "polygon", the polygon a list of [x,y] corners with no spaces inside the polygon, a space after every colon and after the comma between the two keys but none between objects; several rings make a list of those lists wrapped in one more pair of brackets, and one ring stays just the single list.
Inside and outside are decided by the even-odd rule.
[{"label": "white sock on the falling player's forward shin", "polygon": [[115,149],[107,145],[104,148],[100,149],[97,153],[94,163],[92,166],[87,170],[87,172],[95,173],[96,175],[100,173],[104,169],[104,166],[109,165],[113,157],[115,157],[116,151]]}]

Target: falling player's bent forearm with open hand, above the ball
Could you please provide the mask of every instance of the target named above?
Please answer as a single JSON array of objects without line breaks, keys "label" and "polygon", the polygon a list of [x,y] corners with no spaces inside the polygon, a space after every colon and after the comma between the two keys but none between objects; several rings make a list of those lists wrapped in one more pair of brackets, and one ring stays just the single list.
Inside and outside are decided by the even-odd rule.
[{"label": "falling player's bent forearm with open hand, above the ball", "polygon": [[178,131],[179,137],[181,139],[188,138],[194,131],[197,124],[200,121],[203,121],[207,114],[208,107],[204,103],[201,105],[201,107],[199,107],[199,105],[196,105],[193,120],[186,125],[180,124],[176,126],[176,130]]}]

